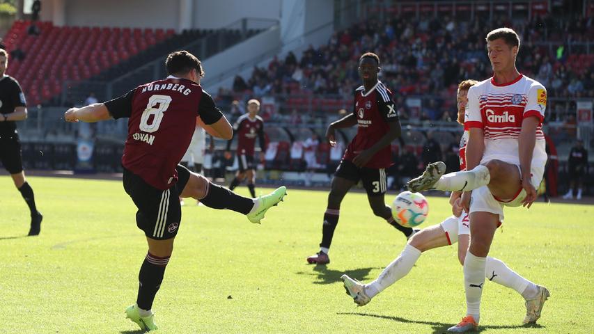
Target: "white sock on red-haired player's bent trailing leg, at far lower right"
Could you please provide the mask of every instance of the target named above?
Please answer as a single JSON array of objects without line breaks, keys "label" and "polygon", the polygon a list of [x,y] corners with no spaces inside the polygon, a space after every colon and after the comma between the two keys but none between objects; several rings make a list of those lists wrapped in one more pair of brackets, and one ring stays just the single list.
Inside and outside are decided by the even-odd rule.
[{"label": "white sock on red-haired player's bent trailing leg, at far lower right", "polygon": [[487,257],[487,278],[494,283],[514,289],[524,299],[532,299],[538,294],[536,284],[519,276],[518,273],[506,266],[505,263],[494,257]]}]

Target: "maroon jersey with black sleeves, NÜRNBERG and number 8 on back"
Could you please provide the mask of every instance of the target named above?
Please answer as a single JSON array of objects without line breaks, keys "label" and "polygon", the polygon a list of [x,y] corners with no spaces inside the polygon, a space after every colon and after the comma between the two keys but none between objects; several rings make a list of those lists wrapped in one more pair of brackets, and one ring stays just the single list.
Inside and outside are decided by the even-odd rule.
[{"label": "maroon jersey with black sleeves, N\u00dcRNBERG and number 8 on back", "polygon": [[162,190],[178,180],[175,166],[192,140],[196,116],[206,125],[222,117],[200,85],[171,76],[134,88],[105,105],[114,118],[130,118],[124,168]]}]

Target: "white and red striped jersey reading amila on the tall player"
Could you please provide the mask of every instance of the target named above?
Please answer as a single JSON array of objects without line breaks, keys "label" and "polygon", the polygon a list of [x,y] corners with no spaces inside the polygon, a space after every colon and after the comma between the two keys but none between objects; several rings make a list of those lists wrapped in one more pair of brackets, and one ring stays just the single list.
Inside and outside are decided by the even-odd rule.
[{"label": "white and red striped jersey reading amila on the tall player", "polygon": [[542,120],[547,107],[547,90],[538,81],[520,74],[508,84],[494,79],[481,81],[468,91],[465,127],[483,129],[485,152],[480,164],[499,159],[519,166],[518,138],[522,120],[536,116],[536,145],[532,167],[544,170],[547,161]]}]

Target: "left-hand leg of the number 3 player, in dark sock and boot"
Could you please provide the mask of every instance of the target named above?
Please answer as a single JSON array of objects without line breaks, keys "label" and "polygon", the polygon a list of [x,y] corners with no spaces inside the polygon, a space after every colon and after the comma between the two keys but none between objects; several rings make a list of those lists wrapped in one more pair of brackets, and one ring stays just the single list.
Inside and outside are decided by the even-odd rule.
[{"label": "left-hand leg of the number 3 player, in dark sock and boot", "polygon": [[332,179],[330,193],[328,194],[328,205],[324,213],[320,251],[307,258],[309,264],[330,263],[328,252],[332,243],[332,237],[334,236],[334,230],[336,230],[336,225],[338,224],[341,202],[343,202],[343,198],[345,198],[345,195],[354,184],[355,182],[347,180],[344,177],[335,176]]}]

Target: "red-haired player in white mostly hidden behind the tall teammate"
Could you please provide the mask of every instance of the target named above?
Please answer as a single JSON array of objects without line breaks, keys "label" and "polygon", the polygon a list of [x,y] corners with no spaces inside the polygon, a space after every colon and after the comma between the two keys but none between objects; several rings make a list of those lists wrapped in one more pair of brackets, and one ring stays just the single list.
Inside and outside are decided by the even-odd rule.
[{"label": "red-haired player in white mostly hidden behind the tall teammate", "polygon": [[[468,90],[477,83],[474,80],[465,80],[458,85],[458,122],[460,124],[464,124],[464,109],[468,101]],[[467,127],[464,127],[464,134],[460,141],[460,170],[465,170],[466,168],[464,152],[466,150],[468,133]],[[373,282],[363,285],[346,275],[341,277],[347,294],[352,296],[357,305],[366,305],[375,295],[405,277],[425,250],[448,246],[458,242],[458,259],[460,260],[460,264],[464,264],[464,257],[466,257],[470,242],[470,229],[469,215],[461,206],[461,195],[462,193],[460,191],[453,191],[451,193],[450,204],[452,205],[453,216],[446,218],[446,220],[438,225],[430,226],[414,234],[408,241],[405,249],[400,253],[400,256],[389,264]],[[533,289],[536,289],[534,283],[519,276],[515,271],[501,262],[501,260],[493,257],[487,257],[485,274],[494,283],[515,289],[524,299],[529,298],[529,293]],[[526,317],[528,317],[530,313],[529,303],[526,303],[526,311]]]}]

